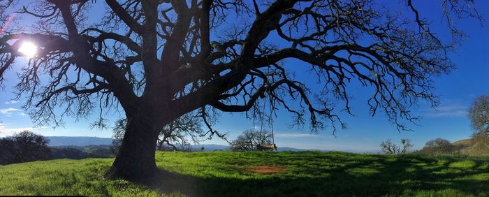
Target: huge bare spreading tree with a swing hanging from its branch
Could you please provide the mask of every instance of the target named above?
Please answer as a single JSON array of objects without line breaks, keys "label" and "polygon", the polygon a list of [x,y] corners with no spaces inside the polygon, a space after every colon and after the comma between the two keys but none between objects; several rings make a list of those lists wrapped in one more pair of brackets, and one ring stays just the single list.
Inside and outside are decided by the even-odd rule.
[{"label": "huge bare spreading tree with a swing hanging from its branch", "polygon": [[[161,128],[188,112],[213,135],[214,112],[259,118],[259,103],[269,101],[268,113],[282,108],[298,126],[309,119],[313,132],[325,124],[335,131],[345,126],[338,113],[351,113],[346,87],[355,81],[371,91],[372,115],[385,112],[405,129],[401,119],[416,119],[410,108],[419,100],[436,104],[432,76],[453,67],[446,52],[462,37],[455,20],[479,17],[473,0],[441,1],[453,42],[441,41],[411,0],[405,5],[408,14],[370,0],[6,0],[0,79],[29,58],[15,87],[38,124],[96,110],[94,126],[104,126],[103,111],[124,110],[126,131],[107,177],[151,182]],[[87,24],[101,7],[104,17]],[[26,15],[37,21],[30,30],[17,20]],[[295,71],[310,71],[321,87]]]}]

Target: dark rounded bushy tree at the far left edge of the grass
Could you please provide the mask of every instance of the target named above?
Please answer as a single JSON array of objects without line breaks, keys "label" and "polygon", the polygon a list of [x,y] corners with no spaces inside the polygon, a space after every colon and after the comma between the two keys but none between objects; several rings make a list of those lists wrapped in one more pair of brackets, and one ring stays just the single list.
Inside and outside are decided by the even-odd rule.
[{"label": "dark rounded bushy tree at the far left edge of the grass", "polygon": [[52,159],[49,140],[31,131],[0,139],[0,164]]}]

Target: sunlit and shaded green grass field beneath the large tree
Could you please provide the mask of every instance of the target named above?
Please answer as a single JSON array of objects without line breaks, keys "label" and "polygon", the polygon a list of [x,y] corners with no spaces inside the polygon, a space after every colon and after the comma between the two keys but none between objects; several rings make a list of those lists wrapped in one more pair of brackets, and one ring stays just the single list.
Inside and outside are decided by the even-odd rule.
[{"label": "sunlit and shaded green grass field beneath the large tree", "polygon": [[[344,152],[157,152],[164,182],[104,180],[112,159],[0,166],[0,195],[489,196],[489,157]],[[282,170],[253,173],[258,166]]]}]

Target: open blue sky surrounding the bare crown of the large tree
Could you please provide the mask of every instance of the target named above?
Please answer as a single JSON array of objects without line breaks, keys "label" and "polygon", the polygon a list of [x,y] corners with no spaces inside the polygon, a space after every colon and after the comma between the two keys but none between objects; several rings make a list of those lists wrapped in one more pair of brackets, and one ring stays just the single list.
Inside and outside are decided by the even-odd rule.
[{"label": "open blue sky surrounding the bare crown of the large tree", "polygon": [[[402,1],[383,2],[388,2],[388,6],[393,6],[393,8],[400,8],[397,4],[402,4]],[[489,2],[479,1],[478,3],[479,11],[488,16]],[[444,33],[446,21],[443,20],[441,10],[439,10],[439,2],[414,1],[414,5],[419,8],[422,15],[430,19],[432,29],[439,32],[442,39],[448,39],[448,34]],[[406,11],[405,9],[400,10]],[[420,108],[414,110],[414,115],[423,117],[418,122],[421,126],[408,124],[409,129],[413,131],[398,132],[383,114],[379,113],[375,117],[370,117],[365,105],[368,92],[353,85],[351,92],[355,93],[351,95],[353,96],[351,105],[355,116],[342,116],[349,129],[337,131],[335,136],[332,135],[330,128],[321,131],[319,135],[310,134],[307,131],[307,126],[304,129],[290,128],[289,114],[279,111],[274,124],[275,142],[279,147],[377,152],[381,141],[386,139],[398,141],[400,138],[409,138],[413,141],[416,149],[420,149],[426,141],[434,138],[445,138],[451,141],[469,138],[472,134],[466,115],[469,105],[475,96],[489,94],[489,52],[486,48],[489,45],[489,37],[487,36],[489,29],[487,28],[488,22],[483,22],[484,27],[481,27],[481,24],[475,20],[464,20],[458,25],[469,38],[456,48],[455,52],[449,54],[457,68],[450,75],[435,78],[436,93],[439,94],[441,101],[439,108],[432,110],[425,107],[426,103],[421,103]],[[5,89],[0,92],[0,136],[8,136],[23,130],[32,130],[44,136],[112,136],[110,129],[89,129],[88,125],[94,119],[75,122],[75,119],[66,117],[64,128],[59,127],[54,130],[50,126],[32,128],[31,119],[21,108],[22,100],[12,100],[13,85],[16,82],[14,73],[20,69],[22,64],[22,61],[17,61],[17,67],[8,72]],[[300,75],[307,77],[308,73],[302,72]],[[117,114],[109,117],[109,123],[111,123],[120,116]],[[233,139],[242,131],[254,126],[259,127],[259,125],[254,125],[251,120],[245,119],[244,114],[223,113],[215,125],[215,129],[228,132],[229,138]],[[203,143],[226,144],[219,139],[208,140]]]}]

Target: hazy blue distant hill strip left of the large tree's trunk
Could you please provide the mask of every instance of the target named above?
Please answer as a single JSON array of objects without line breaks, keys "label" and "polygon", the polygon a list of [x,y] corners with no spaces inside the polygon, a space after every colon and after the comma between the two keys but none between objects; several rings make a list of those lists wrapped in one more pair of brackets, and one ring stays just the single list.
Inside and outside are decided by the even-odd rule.
[{"label": "hazy blue distant hill strip left of the large tree's trunk", "polygon": [[112,138],[48,136],[49,146],[111,145]]}]

